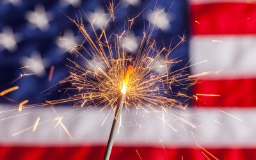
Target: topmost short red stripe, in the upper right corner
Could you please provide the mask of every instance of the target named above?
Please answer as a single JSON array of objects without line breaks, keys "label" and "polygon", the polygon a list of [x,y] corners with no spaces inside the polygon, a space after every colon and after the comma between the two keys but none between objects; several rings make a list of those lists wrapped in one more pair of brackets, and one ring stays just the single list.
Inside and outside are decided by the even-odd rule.
[{"label": "topmost short red stripe, in the upper right corner", "polygon": [[256,3],[192,4],[190,10],[194,35],[256,33]]}]

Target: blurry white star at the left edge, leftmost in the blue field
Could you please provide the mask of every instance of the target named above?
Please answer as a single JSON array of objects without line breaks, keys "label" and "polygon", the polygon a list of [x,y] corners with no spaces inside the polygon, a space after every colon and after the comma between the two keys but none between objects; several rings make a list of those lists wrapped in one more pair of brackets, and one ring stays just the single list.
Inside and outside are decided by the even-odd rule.
[{"label": "blurry white star at the left edge, leftmost in the blue field", "polygon": [[20,42],[20,40],[19,34],[13,34],[12,28],[5,27],[0,33],[0,47],[7,49],[9,52],[17,50],[17,42]]}]

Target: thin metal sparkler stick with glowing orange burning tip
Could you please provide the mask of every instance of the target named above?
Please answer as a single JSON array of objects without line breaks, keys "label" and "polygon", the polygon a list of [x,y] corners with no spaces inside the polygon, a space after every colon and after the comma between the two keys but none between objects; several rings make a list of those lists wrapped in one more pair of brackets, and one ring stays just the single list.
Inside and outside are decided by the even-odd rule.
[{"label": "thin metal sparkler stick with glowing orange burning tip", "polygon": [[129,65],[129,67],[127,68],[127,72],[125,74],[125,77],[124,77],[124,82],[123,82],[121,93],[118,97],[118,104],[116,105],[115,116],[114,116],[114,119],[113,119],[111,131],[110,131],[110,134],[109,134],[108,145],[107,145],[107,148],[106,148],[104,160],[108,160],[109,157],[110,157],[110,154],[111,154],[116,129],[117,129],[117,126],[118,126],[118,125],[116,125],[116,122],[120,119],[121,111],[122,111],[122,108],[124,106],[124,100],[125,100],[125,93],[126,93],[126,90],[127,90],[127,85],[129,83],[130,75],[132,74],[132,72],[133,72],[133,68],[132,68],[131,65]]}]

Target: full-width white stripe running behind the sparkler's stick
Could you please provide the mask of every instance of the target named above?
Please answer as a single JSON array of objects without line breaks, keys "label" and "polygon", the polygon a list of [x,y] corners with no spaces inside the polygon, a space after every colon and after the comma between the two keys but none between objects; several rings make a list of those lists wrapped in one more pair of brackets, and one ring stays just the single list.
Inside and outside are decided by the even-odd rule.
[{"label": "full-width white stripe running behind the sparkler's stick", "polygon": [[[2,111],[6,109],[3,108]],[[28,111],[31,113],[27,115],[20,115],[18,111],[0,113],[0,120],[20,115],[0,121],[0,145],[106,145],[113,119],[111,112],[101,126],[108,112],[101,112],[99,109],[86,111],[83,108],[74,109],[66,106],[56,109],[59,115],[49,108],[27,109],[23,112]],[[195,143],[199,143],[204,147],[256,147],[255,108],[230,108],[223,110],[225,113],[218,108],[191,109],[182,113],[166,109],[165,125],[161,120],[163,118],[161,111],[159,113],[145,113],[142,109],[135,113],[123,111],[122,127],[116,134],[115,145],[159,147],[163,143],[165,147],[195,147]],[[40,122],[33,132],[33,125],[38,116]],[[73,140],[70,140],[61,125],[54,129],[58,120],[53,120],[60,116],[63,116],[61,122],[67,127]],[[47,120],[49,122],[45,122]],[[186,124],[185,120],[195,123],[198,127],[194,129]],[[45,123],[41,124],[42,122]],[[30,127],[28,131],[12,136],[28,127]]]}]

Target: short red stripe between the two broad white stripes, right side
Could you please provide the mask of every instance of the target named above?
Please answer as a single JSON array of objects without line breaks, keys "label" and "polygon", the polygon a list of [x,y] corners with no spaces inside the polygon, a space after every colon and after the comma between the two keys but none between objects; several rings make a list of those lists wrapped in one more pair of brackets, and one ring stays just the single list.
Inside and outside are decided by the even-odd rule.
[{"label": "short red stripe between the two broad white stripes, right side", "polygon": [[217,94],[221,97],[198,96],[196,106],[255,107],[256,79],[200,80],[194,94]]}]

